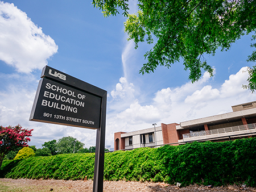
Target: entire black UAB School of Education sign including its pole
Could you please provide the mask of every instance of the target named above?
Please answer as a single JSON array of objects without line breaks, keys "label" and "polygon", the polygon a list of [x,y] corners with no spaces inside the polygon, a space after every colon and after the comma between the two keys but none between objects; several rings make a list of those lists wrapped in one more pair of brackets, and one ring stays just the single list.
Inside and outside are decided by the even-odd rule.
[{"label": "entire black UAB School of Education sign including its pole", "polygon": [[30,120],[97,130],[93,192],[103,191],[107,92],[45,66]]}]

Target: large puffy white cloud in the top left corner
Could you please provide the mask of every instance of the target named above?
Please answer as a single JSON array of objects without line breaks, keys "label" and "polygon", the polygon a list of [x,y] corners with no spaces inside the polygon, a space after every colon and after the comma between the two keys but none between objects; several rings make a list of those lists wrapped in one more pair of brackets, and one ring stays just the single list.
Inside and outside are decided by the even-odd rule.
[{"label": "large puffy white cloud in the top left corner", "polygon": [[0,60],[18,72],[42,69],[57,52],[55,41],[45,35],[27,14],[13,3],[0,1]]}]

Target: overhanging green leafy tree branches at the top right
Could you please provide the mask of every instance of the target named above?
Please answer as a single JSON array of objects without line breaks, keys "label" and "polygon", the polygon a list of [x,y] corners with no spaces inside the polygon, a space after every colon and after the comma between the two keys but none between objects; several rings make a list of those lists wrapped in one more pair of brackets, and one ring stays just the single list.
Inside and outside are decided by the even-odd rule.
[{"label": "overhanging green leafy tree branches at the top right", "polygon": [[[139,42],[156,41],[154,48],[144,55],[147,63],[140,73],[154,72],[157,66],[167,68],[183,61],[189,70],[189,80],[195,82],[202,76],[202,70],[213,76],[212,66],[205,55],[213,55],[218,47],[227,51],[241,36],[255,32],[256,1],[249,0],[138,0],[137,14],[129,14],[128,0],[93,0],[94,7],[102,10],[104,16],[119,14],[127,16],[125,31],[128,40]],[[256,36],[253,35],[252,40]],[[251,44],[255,48],[256,43]],[[247,61],[256,61],[256,51]],[[251,73],[250,73],[251,72]],[[256,89],[255,66],[249,68],[249,85]]]}]

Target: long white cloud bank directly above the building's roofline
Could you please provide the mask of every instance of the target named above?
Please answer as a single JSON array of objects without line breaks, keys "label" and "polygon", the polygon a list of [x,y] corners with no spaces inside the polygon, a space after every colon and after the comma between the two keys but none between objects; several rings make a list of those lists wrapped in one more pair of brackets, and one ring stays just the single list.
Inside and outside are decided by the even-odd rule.
[{"label": "long white cloud bank directly above the building's roofline", "polygon": [[[249,90],[241,87],[246,83],[248,76],[247,73],[242,73],[245,69],[241,68],[221,86],[214,88],[210,85],[209,74],[204,73],[203,78],[195,84],[188,82],[179,87],[167,87],[157,91],[154,98],[147,99],[148,105],[141,105],[139,97],[134,96],[133,102],[127,108],[119,112],[109,112],[107,127],[112,134],[118,131],[130,132],[152,127],[152,123],[159,125],[160,123],[180,123],[185,120],[231,112],[232,105],[256,99],[255,94],[250,94]],[[123,98],[125,102],[126,97]],[[112,105],[115,105],[115,101],[109,103],[110,108]]]}]

